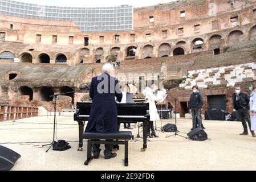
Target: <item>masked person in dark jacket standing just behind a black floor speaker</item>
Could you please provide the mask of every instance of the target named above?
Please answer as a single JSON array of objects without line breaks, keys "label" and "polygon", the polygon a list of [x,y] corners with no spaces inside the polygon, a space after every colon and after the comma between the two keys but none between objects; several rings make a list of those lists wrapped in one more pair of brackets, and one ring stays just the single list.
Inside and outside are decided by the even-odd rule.
[{"label": "masked person in dark jacket standing just behind a black floor speaker", "polygon": [[192,87],[193,93],[190,95],[190,109],[189,113],[192,114],[193,127],[191,130],[196,128],[196,121],[198,122],[198,128],[202,129],[201,109],[204,104],[204,98],[201,92],[198,90],[198,86]]}]

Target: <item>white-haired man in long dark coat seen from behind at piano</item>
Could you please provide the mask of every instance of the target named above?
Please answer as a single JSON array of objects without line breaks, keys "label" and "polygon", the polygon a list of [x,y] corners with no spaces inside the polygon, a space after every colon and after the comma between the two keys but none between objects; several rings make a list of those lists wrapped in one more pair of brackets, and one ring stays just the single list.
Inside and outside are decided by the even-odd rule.
[{"label": "white-haired man in long dark coat seen from behind at piano", "polygon": [[[92,107],[86,131],[115,132],[118,131],[115,97],[121,102],[123,95],[117,78],[110,76],[114,71],[113,66],[106,63],[102,71],[101,75],[93,77],[91,81]],[[105,144],[105,159],[115,158],[116,153],[112,153],[112,148],[112,144]],[[99,158],[100,151],[100,144],[92,145],[94,159]]]}]

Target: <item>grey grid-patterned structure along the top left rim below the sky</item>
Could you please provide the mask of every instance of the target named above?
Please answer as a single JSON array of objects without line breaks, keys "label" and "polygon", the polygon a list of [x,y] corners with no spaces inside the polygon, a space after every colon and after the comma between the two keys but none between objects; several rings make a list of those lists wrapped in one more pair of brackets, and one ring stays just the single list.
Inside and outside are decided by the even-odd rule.
[{"label": "grey grid-patterned structure along the top left rim below the sky", "polygon": [[22,18],[73,21],[81,31],[133,29],[133,7],[59,7],[0,0],[0,14]]}]

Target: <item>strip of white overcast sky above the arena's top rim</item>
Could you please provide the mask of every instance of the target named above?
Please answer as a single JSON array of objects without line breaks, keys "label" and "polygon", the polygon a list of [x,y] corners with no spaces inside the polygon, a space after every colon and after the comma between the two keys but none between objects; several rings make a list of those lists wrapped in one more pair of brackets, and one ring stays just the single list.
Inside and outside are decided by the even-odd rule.
[{"label": "strip of white overcast sky above the arena's top rim", "polygon": [[142,7],[156,5],[157,3],[171,2],[174,0],[15,0],[39,5],[70,6],[70,7],[108,7],[119,5],[132,5]]}]

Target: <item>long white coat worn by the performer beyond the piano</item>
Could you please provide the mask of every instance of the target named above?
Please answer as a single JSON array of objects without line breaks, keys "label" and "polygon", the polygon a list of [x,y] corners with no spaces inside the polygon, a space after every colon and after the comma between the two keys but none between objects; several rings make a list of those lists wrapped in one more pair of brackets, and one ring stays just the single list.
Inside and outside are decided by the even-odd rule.
[{"label": "long white coat worn by the performer beyond the piano", "polygon": [[147,98],[147,103],[149,103],[149,115],[150,121],[158,121],[160,120],[159,114],[157,113],[155,101],[161,101],[162,97],[156,97],[153,93],[153,90],[149,87],[146,87],[143,91],[145,98]]}]

